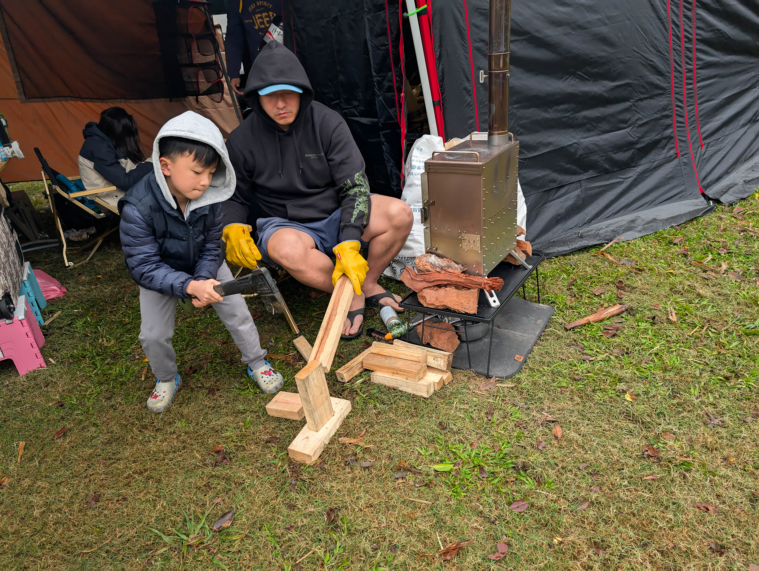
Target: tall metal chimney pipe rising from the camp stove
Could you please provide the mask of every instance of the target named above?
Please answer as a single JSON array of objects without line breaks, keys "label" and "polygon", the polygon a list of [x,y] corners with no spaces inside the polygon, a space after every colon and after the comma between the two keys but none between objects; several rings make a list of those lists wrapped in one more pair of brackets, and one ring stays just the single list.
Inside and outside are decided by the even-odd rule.
[{"label": "tall metal chimney pipe rising from the camp stove", "polygon": [[509,142],[509,36],[511,0],[490,0],[487,42],[487,144]]}]

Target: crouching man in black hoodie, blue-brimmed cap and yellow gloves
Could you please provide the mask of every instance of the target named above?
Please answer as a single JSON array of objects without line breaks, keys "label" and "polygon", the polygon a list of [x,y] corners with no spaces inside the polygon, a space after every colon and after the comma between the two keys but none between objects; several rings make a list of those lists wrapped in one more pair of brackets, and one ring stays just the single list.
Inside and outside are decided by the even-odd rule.
[{"label": "crouching man in black hoodie, blue-brimmed cap and yellow gloves", "polygon": [[[377,279],[411,231],[411,209],[370,195],[348,125],[313,101],[301,62],[279,42],[261,50],[245,98],[254,113],[227,140],[237,175],[235,194],[222,205],[227,259],[253,268],[263,258],[326,292],[347,275],[354,297],[343,339],[358,337],[365,304],[400,309],[400,298]],[[247,224],[256,227],[258,247]]]}]

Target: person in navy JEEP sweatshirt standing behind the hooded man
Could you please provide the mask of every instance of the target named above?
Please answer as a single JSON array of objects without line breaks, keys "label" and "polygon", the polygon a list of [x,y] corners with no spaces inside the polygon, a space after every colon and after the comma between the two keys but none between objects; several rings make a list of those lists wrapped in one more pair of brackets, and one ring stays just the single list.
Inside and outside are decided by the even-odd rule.
[{"label": "person in navy JEEP sweatshirt standing behind the hooded man", "polygon": [[[263,36],[274,20],[282,20],[282,3],[280,0],[227,0],[227,33],[224,47],[227,56],[227,73],[229,83],[235,93],[240,90],[240,66],[243,61],[244,48],[250,62],[255,61],[260,49],[265,45]],[[247,70],[249,63],[245,64]]]}]

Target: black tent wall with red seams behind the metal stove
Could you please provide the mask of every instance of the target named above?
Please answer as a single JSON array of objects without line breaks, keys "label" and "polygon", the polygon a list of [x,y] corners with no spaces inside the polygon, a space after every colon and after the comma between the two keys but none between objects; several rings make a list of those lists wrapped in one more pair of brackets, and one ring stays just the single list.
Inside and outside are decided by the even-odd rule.
[{"label": "black tent wall with red seams behind the metal stove", "polygon": [[[446,136],[487,130],[479,74],[487,75],[488,2],[432,5]],[[748,0],[512,3],[509,130],[520,141],[528,240],[538,251],[558,255],[704,215],[712,207],[700,188],[726,202],[751,193],[754,8]]]}]

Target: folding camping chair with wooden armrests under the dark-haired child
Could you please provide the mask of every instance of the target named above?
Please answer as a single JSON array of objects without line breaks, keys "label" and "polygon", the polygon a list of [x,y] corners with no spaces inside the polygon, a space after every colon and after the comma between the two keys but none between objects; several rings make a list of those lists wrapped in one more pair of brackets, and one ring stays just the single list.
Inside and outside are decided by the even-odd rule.
[{"label": "folding camping chair with wooden armrests under the dark-haired child", "polygon": [[[63,254],[63,263],[67,268],[75,268],[77,265],[86,264],[93,257],[103,240],[105,240],[109,234],[118,230],[119,223],[118,210],[93,195],[104,193],[109,190],[116,190],[116,187],[86,190],[80,177],[65,177],[50,167],[42,153],[39,152],[39,149],[35,147],[34,152],[36,153],[37,158],[39,158],[39,164],[42,165],[43,168],[43,187],[45,188],[45,194],[50,203],[50,210],[52,211],[53,218],[55,218],[55,227],[58,228],[58,240],[61,245],[61,254]],[[56,205],[56,200],[58,200],[58,205]],[[65,202],[60,202],[61,200],[65,200]],[[74,210],[76,214],[80,215],[80,220],[89,220],[92,222],[91,224],[88,223],[85,227],[92,226],[103,218],[110,217],[111,219],[109,220],[106,229],[103,230],[98,237],[90,240],[83,246],[68,248],[68,246],[66,246],[66,237],[63,230],[64,224],[61,224],[61,217],[59,215],[59,209],[63,205],[67,205],[69,210]],[[80,212],[77,209],[80,209]],[[95,247],[93,247],[90,255],[87,256],[87,259],[83,262],[74,264],[74,262],[68,261],[68,257],[66,256],[67,253],[81,253],[93,244],[95,244]]]}]

